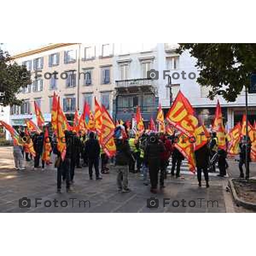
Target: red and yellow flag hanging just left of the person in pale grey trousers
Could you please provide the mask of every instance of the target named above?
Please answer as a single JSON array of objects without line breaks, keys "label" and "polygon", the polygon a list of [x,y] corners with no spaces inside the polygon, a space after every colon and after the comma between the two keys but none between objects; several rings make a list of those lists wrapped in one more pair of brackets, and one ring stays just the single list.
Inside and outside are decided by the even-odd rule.
[{"label": "red and yellow flag hanging just left of the person in pale grey trousers", "polygon": [[113,157],[116,154],[116,144],[114,141],[115,124],[104,106],[102,106],[102,131],[101,131],[101,146],[108,157]]}]

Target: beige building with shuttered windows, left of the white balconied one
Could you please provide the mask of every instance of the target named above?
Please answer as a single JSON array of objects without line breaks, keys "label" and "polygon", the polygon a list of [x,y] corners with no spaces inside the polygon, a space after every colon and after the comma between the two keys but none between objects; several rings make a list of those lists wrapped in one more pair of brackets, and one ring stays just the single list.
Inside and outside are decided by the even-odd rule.
[{"label": "beige building with shuttered windows, left of the white balconied one", "polygon": [[34,101],[49,122],[54,91],[68,119],[73,119],[76,109],[83,111],[85,101],[94,111],[94,97],[112,114],[113,44],[49,44],[12,60],[25,64],[33,81],[18,94],[23,104],[11,108],[12,125],[23,125],[24,118],[35,119]]}]

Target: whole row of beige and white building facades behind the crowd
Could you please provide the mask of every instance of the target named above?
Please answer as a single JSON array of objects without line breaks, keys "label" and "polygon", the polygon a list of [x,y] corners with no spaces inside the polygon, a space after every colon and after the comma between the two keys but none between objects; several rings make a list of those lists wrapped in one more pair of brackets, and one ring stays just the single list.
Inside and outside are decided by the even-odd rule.
[{"label": "whole row of beige and white building facades behind the crowd", "polygon": [[[159,104],[167,113],[181,90],[207,127],[212,123],[219,100],[226,128],[232,128],[245,111],[244,91],[236,102],[226,102],[222,97],[208,99],[208,89],[197,83],[199,71],[195,58],[188,52],[177,54],[177,47],[170,43],[50,44],[15,55],[14,61],[32,71],[33,83],[18,94],[24,102],[21,106],[12,106],[11,124],[23,125],[24,118],[35,121],[34,101],[49,122],[53,91],[60,96],[62,108],[70,120],[76,109],[83,111],[84,102],[94,111],[96,97],[113,119],[125,121],[135,117],[139,105],[144,121],[148,122],[156,117]],[[42,75],[52,74],[52,78],[39,77],[35,70],[42,70]],[[150,70],[157,71],[159,79],[149,78]],[[167,71],[164,73],[164,70]],[[54,79],[54,72],[58,73],[58,79]],[[67,73],[67,79],[61,79],[61,73]],[[249,120],[253,122],[256,119],[255,94],[249,94],[248,105]]]}]

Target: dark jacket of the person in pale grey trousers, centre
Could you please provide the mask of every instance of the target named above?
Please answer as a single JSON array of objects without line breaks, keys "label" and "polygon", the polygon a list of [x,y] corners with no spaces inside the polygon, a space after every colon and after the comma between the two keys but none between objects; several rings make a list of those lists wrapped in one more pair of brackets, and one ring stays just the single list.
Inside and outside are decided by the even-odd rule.
[{"label": "dark jacket of the person in pale grey trousers, centre", "polygon": [[126,166],[132,158],[128,140],[116,140],[116,165]]}]

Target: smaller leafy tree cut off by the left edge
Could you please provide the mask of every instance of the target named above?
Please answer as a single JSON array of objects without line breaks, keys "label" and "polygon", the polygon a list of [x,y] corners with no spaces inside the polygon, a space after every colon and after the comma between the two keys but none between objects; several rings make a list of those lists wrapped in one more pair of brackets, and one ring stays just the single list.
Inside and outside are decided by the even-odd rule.
[{"label": "smaller leafy tree cut off by the left edge", "polygon": [[16,98],[16,94],[19,93],[20,88],[26,87],[28,84],[32,84],[26,66],[20,66],[16,62],[12,63],[8,52],[3,51],[0,48],[0,105],[20,105],[21,100]]}]

